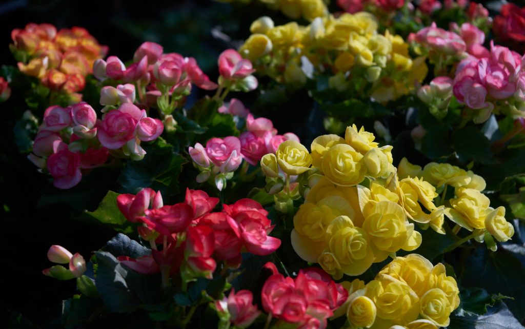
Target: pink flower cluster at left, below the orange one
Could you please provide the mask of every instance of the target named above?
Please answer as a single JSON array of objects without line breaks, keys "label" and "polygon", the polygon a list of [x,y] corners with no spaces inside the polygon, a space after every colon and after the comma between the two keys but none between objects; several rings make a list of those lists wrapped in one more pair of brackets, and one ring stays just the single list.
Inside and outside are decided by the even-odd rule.
[{"label": "pink flower cluster at left, below the orange one", "polygon": [[80,182],[81,169],[106,163],[109,150],[123,147],[124,154],[142,158],[145,151],[140,142],[155,140],[163,129],[160,120],[148,118],[132,103],[123,103],[102,120],[85,102],[67,108],[54,105],[44,112],[29,160],[47,168],[56,187],[67,189]]}]

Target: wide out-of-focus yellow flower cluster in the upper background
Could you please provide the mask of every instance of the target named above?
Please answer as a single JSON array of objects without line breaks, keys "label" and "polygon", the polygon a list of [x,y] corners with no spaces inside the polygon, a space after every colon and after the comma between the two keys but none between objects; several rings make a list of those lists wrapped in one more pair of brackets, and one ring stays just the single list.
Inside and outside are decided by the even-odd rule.
[{"label": "wide out-of-focus yellow flower cluster in the upper background", "polygon": [[345,91],[359,86],[361,94],[386,102],[413,90],[428,68],[424,57],[408,55],[401,36],[379,34],[377,27],[377,19],[365,12],[317,17],[308,26],[295,22],[274,26],[269,17],[261,17],[251,25],[252,35],[239,52],[254,62],[258,72],[279,82],[304,84],[301,65],[308,61],[314,73],[334,74],[331,88]]}]

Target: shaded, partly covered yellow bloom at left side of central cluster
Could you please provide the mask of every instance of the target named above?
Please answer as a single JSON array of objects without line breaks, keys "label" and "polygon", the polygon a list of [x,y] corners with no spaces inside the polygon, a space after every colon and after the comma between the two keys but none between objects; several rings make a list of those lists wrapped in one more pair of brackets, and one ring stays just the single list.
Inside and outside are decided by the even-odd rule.
[{"label": "shaded, partly covered yellow bloom at left side of central cluster", "polygon": [[316,263],[321,253],[328,248],[326,230],[336,217],[352,218],[354,210],[340,196],[328,196],[317,204],[306,203],[299,207],[293,217],[291,243],[302,259]]}]

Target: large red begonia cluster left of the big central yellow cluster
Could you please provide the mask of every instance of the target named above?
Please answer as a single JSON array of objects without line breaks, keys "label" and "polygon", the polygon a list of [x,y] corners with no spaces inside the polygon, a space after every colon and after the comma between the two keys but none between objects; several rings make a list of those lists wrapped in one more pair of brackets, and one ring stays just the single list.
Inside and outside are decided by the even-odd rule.
[{"label": "large red begonia cluster left of the big central yellow cluster", "polygon": [[281,241],[268,236],[274,227],[260,204],[240,199],[233,205],[223,205],[222,212],[213,213],[218,201],[191,189],[186,189],[184,202],[174,205],[164,205],[160,192],[150,188],[137,195],[119,195],[120,211],[129,221],[142,223],[138,232],[150,241],[152,254],[118,259],[140,273],[161,272],[164,285],[169,284],[171,275],[180,272],[186,286],[194,278],[213,278],[217,261],[238,268],[241,252],[264,256],[279,248]]}]

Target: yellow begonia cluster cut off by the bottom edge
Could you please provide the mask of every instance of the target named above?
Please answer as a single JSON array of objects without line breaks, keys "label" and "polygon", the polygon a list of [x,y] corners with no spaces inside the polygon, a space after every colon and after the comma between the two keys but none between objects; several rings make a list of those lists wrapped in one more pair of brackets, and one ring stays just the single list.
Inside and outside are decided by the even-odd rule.
[{"label": "yellow begonia cluster cut off by the bottom edge", "polygon": [[456,280],[445,266],[418,254],[396,257],[367,284],[342,284],[349,298],[335,316],[346,313],[350,328],[437,329],[449,325],[459,306]]}]

